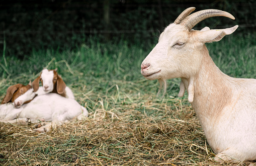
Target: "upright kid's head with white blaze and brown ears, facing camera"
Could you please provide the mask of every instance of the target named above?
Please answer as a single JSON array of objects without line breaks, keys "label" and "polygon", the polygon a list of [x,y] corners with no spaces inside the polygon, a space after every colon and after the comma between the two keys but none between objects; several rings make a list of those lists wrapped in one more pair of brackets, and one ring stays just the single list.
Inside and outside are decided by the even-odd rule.
[{"label": "upright kid's head with white blaze and brown ears, facing camera", "polygon": [[39,88],[39,82],[41,81],[43,90],[45,93],[55,91],[59,94],[63,94],[66,88],[66,84],[62,80],[61,76],[58,75],[57,69],[48,70],[44,69],[40,76],[38,76],[33,82],[32,87],[34,92]]}]

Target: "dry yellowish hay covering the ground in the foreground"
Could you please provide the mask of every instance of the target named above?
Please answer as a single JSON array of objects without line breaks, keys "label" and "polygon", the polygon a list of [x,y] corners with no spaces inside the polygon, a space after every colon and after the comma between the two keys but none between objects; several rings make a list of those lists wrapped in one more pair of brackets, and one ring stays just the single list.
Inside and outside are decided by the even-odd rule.
[{"label": "dry yellowish hay covering the ground in the foreground", "polygon": [[94,89],[73,85],[89,111],[85,121],[71,121],[46,134],[33,132],[31,126],[0,123],[0,165],[216,165],[185,98],[143,93],[140,82],[113,81],[104,92],[96,84],[99,88],[105,81],[90,83]]}]

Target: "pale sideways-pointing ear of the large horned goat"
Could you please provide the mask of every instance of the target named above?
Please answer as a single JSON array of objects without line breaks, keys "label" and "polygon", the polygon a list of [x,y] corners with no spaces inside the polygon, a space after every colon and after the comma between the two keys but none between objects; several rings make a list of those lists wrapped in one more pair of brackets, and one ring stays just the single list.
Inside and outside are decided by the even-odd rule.
[{"label": "pale sideways-pointing ear of the large horned goat", "polygon": [[[214,41],[220,41],[225,35],[230,35],[238,28],[238,25],[226,29],[208,29],[203,28],[198,33],[198,38],[202,43],[210,43]],[[208,29],[208,30],[207,30]]]}]

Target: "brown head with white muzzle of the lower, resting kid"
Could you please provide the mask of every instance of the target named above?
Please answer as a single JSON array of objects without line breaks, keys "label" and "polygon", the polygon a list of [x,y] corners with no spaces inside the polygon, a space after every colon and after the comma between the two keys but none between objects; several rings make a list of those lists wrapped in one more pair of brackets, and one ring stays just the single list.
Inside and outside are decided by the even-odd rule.
[{"label": "brown head with white muzzle of the lower, resting kid", "polygon": [[13,102],[14,107],[18,108],[24,103],[30,102],[34,97],[31,81],[27,85],[15,84],[7,88],[6,95],[4,96],[1,104]]}]

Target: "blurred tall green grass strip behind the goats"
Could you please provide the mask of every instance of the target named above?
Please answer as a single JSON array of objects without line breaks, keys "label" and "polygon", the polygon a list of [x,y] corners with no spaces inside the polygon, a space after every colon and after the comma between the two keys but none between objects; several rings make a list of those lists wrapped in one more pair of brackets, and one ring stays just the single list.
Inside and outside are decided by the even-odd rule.
[{"label": "blurred tall green grass strip behind the goats", "polygon": [[[225,36],[219,42],[206,44],[210,56],[225,74],[238,78],[256,78],[256,37],[253,34],[233,34]],[[100,43],[90,38],[89,44],[81,44],[72,51],[31,50],[23,59],[15,56],[3,56],[0,59],[0,94],[13,83],[26,84],[35,79],[43,68],[55,69],[65,78],[65,82],[91,79],[146,81],[140,74],[143,59],[152,50],[141,43],[118,42]],[[13,82],[13,83],[12,83]],[[111,86],[111,85],[109,85]],[[143,84],[142,87],[145,87]],[[105,88],[108,88],[107,86]],[[157,87],[153,88],[156,91]],[[177,95],[178,79],[169,81],[167,95]],[[148,87],[147,87],[148,89]],[[174,90],[174,91],[173,91]],[[147,92],[149,92],[147,90]]]}]

